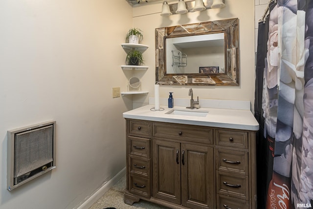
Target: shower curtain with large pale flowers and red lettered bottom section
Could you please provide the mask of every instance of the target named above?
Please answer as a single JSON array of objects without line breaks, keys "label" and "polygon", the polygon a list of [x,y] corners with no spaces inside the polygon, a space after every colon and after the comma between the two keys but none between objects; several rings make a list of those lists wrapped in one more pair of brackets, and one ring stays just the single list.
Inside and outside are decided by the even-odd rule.
[{"label": "shower curtain with large pale flowers and red lettered bottom section", "polygon": [[268,21],[262,116],[273,166],[266,209],[312,208],[313,0],[277,0]]}]

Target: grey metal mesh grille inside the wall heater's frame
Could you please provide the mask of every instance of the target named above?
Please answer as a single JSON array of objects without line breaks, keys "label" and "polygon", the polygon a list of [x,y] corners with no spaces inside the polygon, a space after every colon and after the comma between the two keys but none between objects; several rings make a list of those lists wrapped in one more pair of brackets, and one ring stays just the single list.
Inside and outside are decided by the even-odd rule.
[{"label": "grey metal mesh grille inside the wall heater's frame", "polygon": [[53,161],[53,126],[15,135],[14,177],[35,170]]}]

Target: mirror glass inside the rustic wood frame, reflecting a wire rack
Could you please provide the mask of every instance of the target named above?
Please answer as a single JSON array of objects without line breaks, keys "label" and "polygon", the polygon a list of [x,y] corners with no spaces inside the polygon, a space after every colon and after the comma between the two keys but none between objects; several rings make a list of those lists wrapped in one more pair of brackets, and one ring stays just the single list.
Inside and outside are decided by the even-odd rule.
[{"label": "mirror glass inside the rustic wood frame, reflecting a wire rack", "polygon": [[224,72],[224,33],[167,38],[166,73]]}]

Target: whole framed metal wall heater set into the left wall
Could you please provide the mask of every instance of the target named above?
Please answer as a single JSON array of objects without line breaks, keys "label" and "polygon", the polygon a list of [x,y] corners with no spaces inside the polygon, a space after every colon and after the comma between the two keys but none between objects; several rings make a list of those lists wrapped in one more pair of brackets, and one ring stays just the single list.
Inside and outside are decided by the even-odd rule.
[{"label": "whole framed metal wall heater set into the left wall", "polygon": [[56,121],[8,131],[7,189],[55,168]]}]

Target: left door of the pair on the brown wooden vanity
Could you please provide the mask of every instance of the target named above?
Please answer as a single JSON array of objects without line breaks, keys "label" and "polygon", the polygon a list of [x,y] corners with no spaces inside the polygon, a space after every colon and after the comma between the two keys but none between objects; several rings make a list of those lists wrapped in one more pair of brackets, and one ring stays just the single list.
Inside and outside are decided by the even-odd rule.
[{"label": "left door of the pair on the brown wooden vanity", "polygon": [[153,196],[180,205],[180,143],[153,140]]}]

